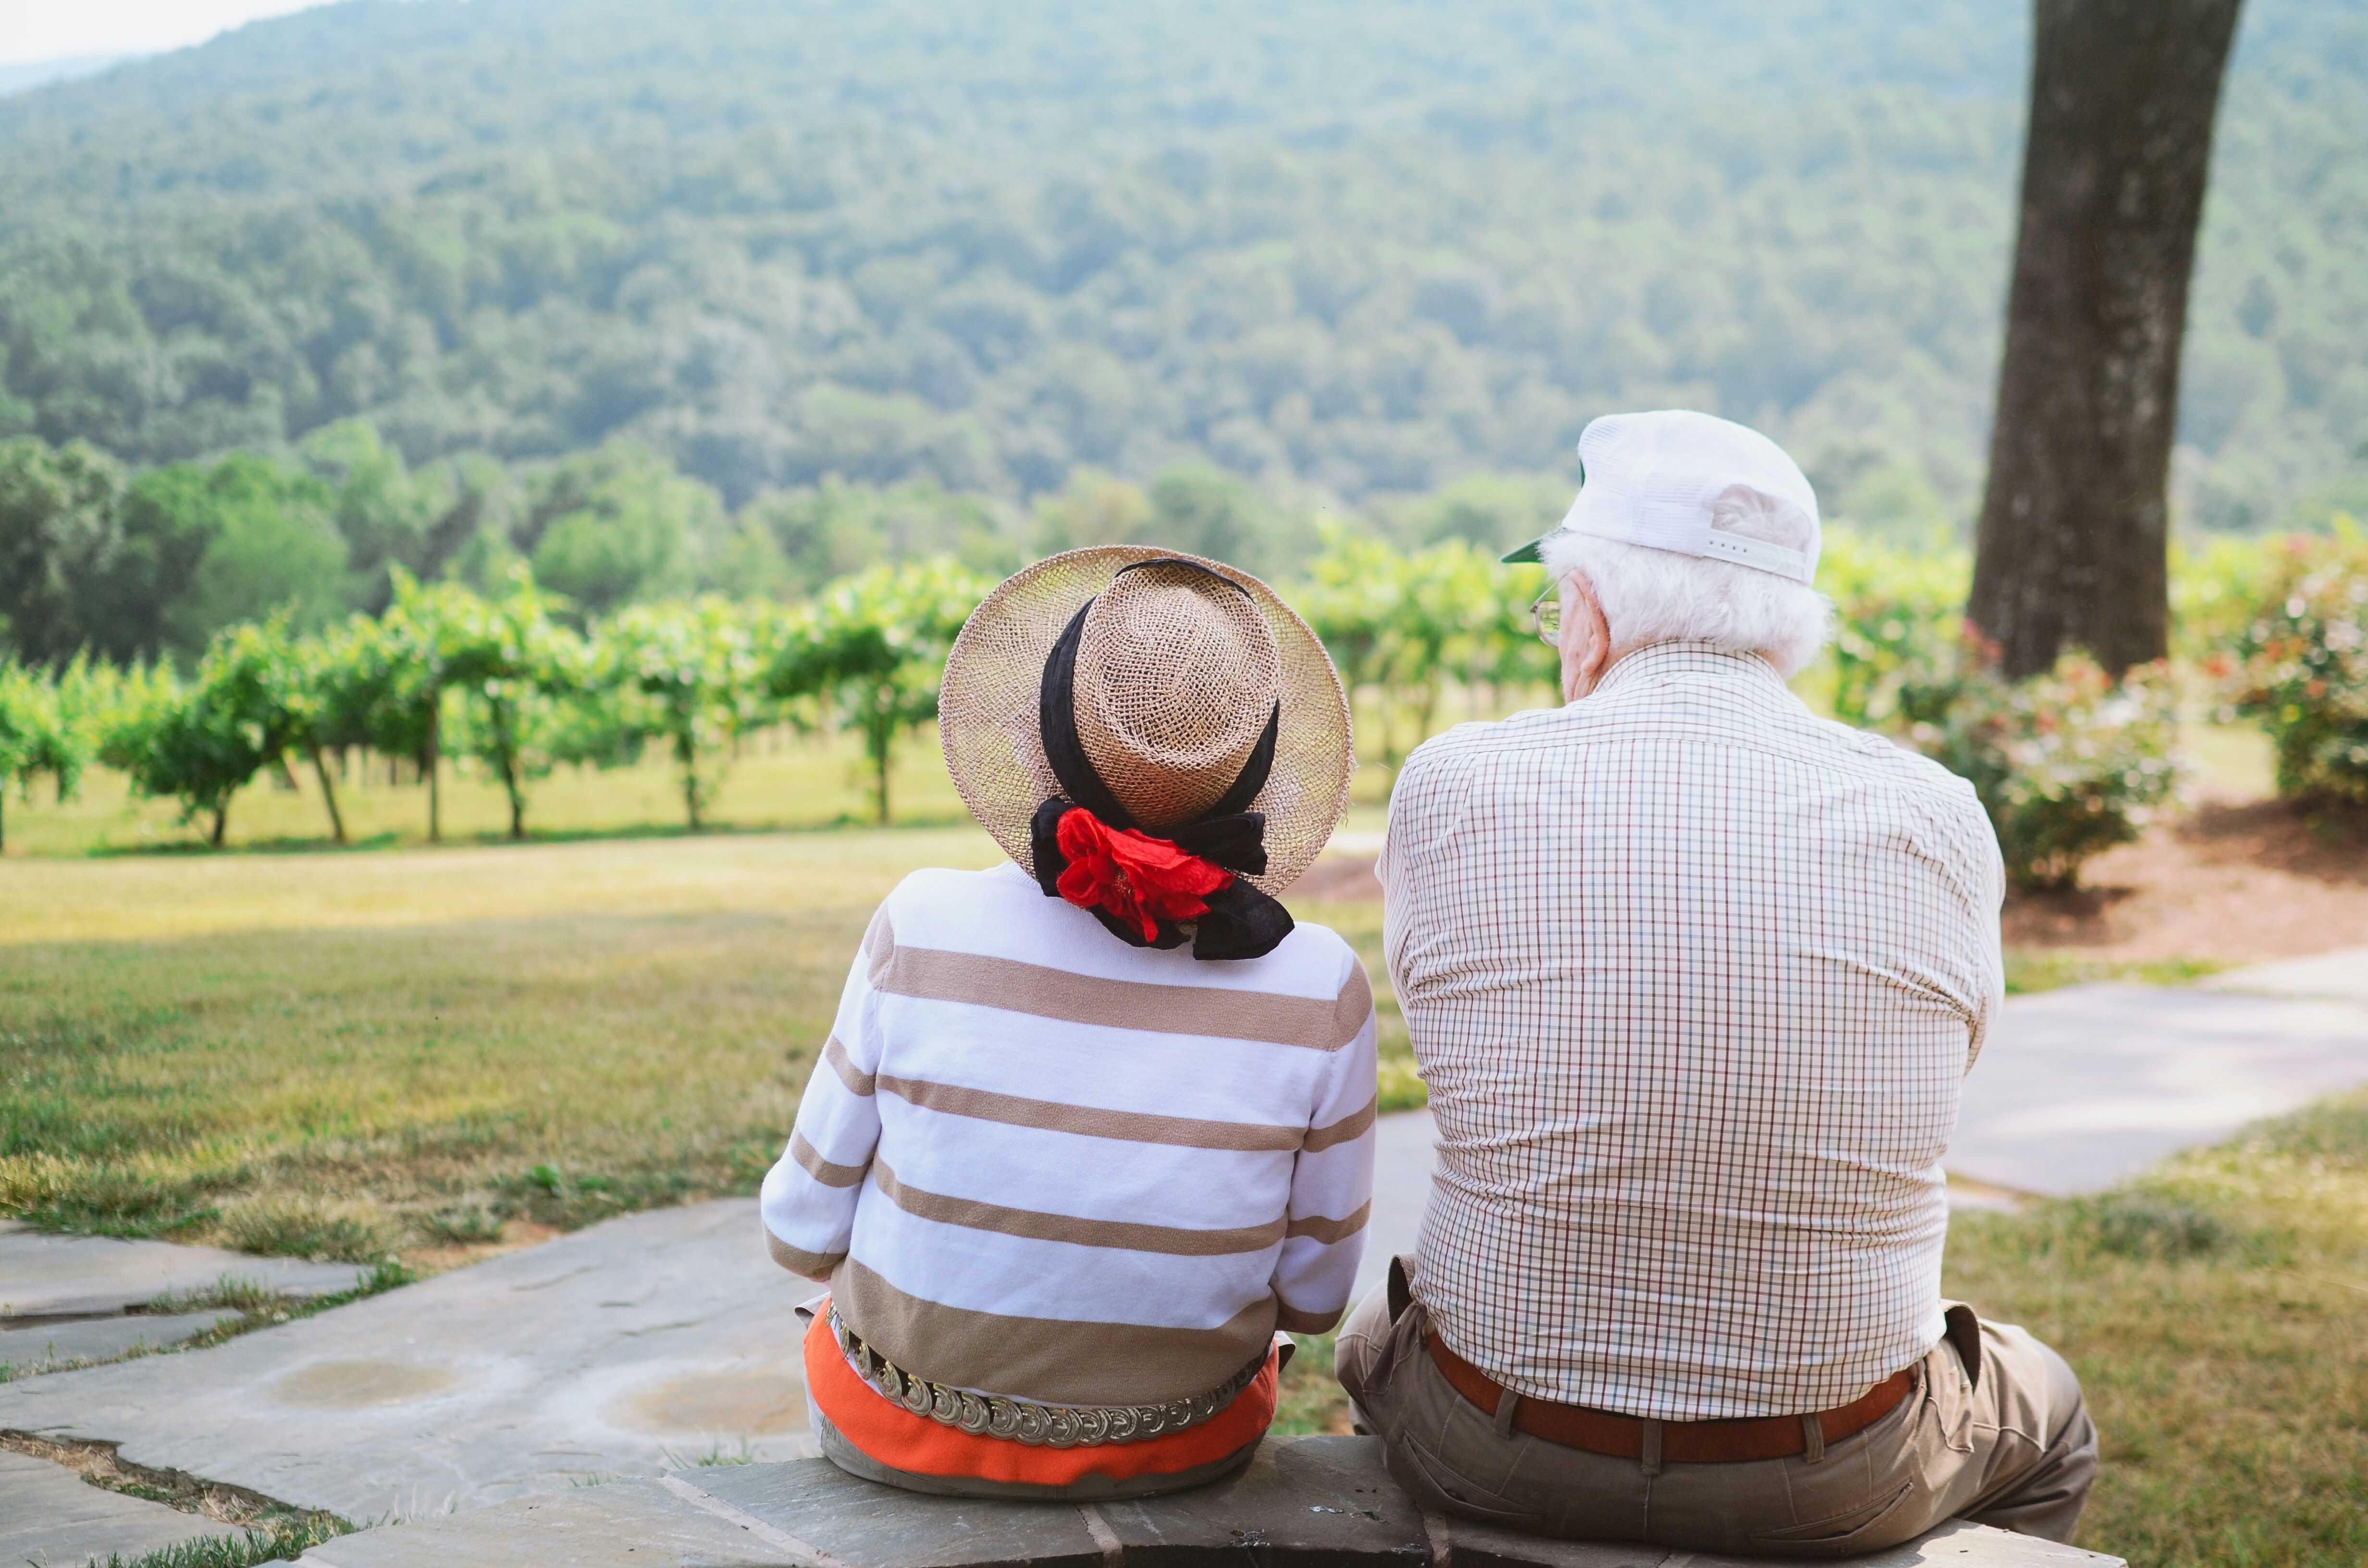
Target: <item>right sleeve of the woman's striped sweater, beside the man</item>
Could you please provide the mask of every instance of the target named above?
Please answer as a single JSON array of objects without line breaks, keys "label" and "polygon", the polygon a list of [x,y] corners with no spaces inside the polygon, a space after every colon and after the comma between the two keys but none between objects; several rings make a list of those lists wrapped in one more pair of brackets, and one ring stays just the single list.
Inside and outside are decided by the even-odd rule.
[{"label": "right sleeve of the woman's striped sweater, beside the man", "polygon": [[1274,1262],[1276,1326],[1324,1334],[1347,1310],[1364,1262],[1366,1220],[1373,1215],[1373,988],[1364,964],[1347,959],[1340,1009],[1354,1037],[1324,1066],[1307,1142],[1291,1175],[1291,1215],[1283,1253]]}]

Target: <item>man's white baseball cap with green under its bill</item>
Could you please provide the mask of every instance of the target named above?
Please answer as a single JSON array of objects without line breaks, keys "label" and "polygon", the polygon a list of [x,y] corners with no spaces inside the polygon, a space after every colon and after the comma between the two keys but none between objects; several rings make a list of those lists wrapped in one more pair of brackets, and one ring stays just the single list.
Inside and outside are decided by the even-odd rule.
[{"label": "man's white baseball cap with green under its bill", "polygon": [[[1797,514],[1809,547],[1790,550],[1712,528],[1717,505],[1738,490],[1778,514]],[[1591,419],[1579,431],[1579,497],[1570,502],[1563,526],[1504,559],[1544,561],[1542,547],[1556,533],[1698,554],[1795,583],[1816,580],[1819,521],[1809,476],[1759,431],[1684,407]]]}]

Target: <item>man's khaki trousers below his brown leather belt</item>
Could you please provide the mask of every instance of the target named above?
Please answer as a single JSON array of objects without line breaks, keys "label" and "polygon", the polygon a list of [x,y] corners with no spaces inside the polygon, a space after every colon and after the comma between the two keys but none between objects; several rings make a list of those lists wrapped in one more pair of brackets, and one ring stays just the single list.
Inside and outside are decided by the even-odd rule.
[{"label": "man's khaki trousers below his brown leather belt", "polygon": [[[1395,1272],[1395,1270],[1392,1270]],[[1894,1412],[1823,1454],[1648,1469],[1499,1426],[1426,1350],[1418,1300],[1366,1296],[1336,1369],[1390,1476],[1426,1509],[1530,1535],[1738,1556],[1875,1551],[1951,1521],[2072,1540],[2096,1480],[2096,1426],[2063,1357],[1951,1307],[1951,1334]],[[1970,1367],[1956,1341],[1980,1345]],[[1499,1405],[1511,1416],[1511,1400]]]}]

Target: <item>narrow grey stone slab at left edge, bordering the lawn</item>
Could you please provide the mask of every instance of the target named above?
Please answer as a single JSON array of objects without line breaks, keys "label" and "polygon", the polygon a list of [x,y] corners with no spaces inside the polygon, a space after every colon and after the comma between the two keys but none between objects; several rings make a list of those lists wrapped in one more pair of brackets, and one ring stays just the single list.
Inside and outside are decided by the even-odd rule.
[{"label": "narrow grey stone slab at left edge, bordering the lawn", "polygon": [[211,1291],[225,1274],[279,1296],[334,1296],[350,1291],[362,1272],[350,1262],[253,1258],[218,1246],[47,1236],[31,1225],[0,1220],[0,1319],[121,1312],[166,1293]]}]

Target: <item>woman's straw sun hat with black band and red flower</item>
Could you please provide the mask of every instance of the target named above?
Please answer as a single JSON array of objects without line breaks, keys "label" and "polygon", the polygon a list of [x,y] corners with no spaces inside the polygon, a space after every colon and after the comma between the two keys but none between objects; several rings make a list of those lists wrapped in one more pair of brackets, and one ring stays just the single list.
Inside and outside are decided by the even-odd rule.
[{"label": "woman's straw sun hat with black band and red flower", "polygon": [[1139,947],[1257,957],[1347,808],[1347,696],[1265,583],[1148,545],[1006,578],[945,661],[954,789],[1047,895]]}]

